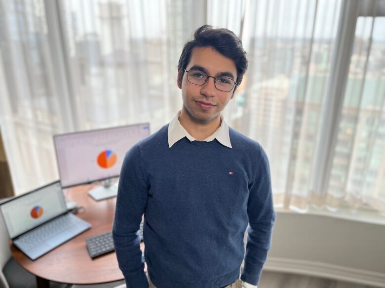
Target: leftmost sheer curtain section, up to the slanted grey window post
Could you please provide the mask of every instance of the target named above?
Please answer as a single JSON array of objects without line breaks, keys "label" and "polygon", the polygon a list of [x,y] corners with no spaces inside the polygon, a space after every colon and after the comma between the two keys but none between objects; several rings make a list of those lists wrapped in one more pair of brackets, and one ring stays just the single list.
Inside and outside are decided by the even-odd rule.
[{"label": "leftmost sheer curtain section, up to the slanted grey window post", "polygon": [[71,129],[42,1],[0,1],[0,125],[16,192],[57,178],[52,134]]}]

